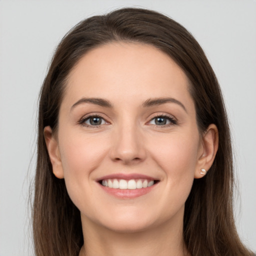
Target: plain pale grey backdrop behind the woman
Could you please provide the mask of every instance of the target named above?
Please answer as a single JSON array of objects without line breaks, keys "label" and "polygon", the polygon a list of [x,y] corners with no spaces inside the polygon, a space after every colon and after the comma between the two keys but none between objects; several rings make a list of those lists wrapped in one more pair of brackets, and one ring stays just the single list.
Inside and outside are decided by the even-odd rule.
[{"label": "plain pale grey backdrop behind the woman", "polygon": [[37,96],[52,52],[81,19],[123,6],[169,15],[205,50],[230,119],[237,228],[256,250],[255,0],[0,0],[0,256],[33,254],[28,195]]}]

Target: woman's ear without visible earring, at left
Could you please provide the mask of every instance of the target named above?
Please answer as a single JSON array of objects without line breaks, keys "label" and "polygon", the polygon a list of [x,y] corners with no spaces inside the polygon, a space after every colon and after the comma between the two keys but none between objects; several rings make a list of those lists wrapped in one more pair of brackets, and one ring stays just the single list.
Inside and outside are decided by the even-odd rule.
[{"label": "woman's ear without visible earring, at left", "polygon": [[63,178],[63,168],[58,150],[58,143],[56,138],[52,134],[50,126],[46,126],[43,129],[44,140],[50,157],[53,174],[57,178]]}]

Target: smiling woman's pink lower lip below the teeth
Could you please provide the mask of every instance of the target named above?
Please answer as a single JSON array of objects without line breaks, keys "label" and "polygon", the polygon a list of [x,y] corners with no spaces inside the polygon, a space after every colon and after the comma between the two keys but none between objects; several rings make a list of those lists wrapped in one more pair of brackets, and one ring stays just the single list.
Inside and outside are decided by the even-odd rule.
[{"label": "smiling woman's pink lower lip below the teeth", "polygon": [[101,184],[99,185],[105,192],[117,198],[130,199],[130,198],[135,198],[135,197],[149,193],[157,185],[157,183],[145,188],[136,188],[136,189],[110,188],[108,186],[103,186]]}]

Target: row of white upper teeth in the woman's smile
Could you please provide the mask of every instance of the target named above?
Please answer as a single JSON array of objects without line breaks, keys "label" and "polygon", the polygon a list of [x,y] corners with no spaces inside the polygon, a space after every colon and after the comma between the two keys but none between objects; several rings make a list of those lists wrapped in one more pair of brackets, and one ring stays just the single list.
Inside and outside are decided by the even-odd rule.
[{"label": "row of white upper teeth in the woman's smile", "polygon": [[136,188],[145,188],[148,186],[152,186],[154,184],[153,180],[147,179],[104,179],[101,184],[103,186],[108,186],[111,188],[119,188],[119,189],[136,189]]}]

